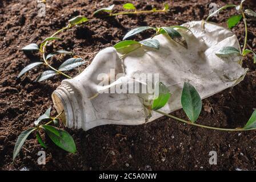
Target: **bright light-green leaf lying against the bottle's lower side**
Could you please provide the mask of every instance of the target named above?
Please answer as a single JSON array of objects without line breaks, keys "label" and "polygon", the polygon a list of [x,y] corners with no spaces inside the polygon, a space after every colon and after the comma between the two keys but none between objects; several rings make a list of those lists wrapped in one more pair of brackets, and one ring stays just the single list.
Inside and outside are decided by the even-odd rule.
[{"label": "bright light-green leaf lying against the bottle's lower side", "polygon": [[[158,110],[161,109],[163,106],[166,105],[166,103],[169,101],[171,94],[170,90],[165,86],[162,82],[158,82],[158,92],[155,96],[157,98],[154,99],[151,109],[152,110]],[[157,88],[157,87],[155,87]]]}]

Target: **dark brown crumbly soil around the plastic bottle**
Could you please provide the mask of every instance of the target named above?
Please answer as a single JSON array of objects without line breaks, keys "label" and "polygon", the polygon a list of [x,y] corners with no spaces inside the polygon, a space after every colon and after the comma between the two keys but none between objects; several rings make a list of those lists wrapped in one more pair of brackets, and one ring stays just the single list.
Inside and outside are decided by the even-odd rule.
[{"label": "dark brown crumbly soil around the plastic bottle", "polygon": [[[69,154],[43,137],[50,146],[46,151],[46,165],[37,164],[37,152],[41,150],[35,135],[31,135],[25,148],[12,163],[14,143],[18,135],[33,126],[35,119],[47,107],[53,106],[51,93],[63,80],[54,77],[45,82],[33,82],[42,68],[33,69],[17,79],[18,73],[29,63],[40,59],[39,55],[25,54],[23,46],[39,44],[42,39],[66,25],[76,15],[91,14],[99,7],[117,5],[126,1],[46,0],[46,17],[37,16],[37,1],[3,0],[0,2],[0,169],[30,170],[97,170],[97,169],[153,169],[153,170],[234,170],[256,169],[256,131],[225,132],[183,125],[162,117],[141,126],[99,126],[89,131],[70,130],[78,151]],[[162,9],[165,1],[130,1],[139,10]],[[95,54],[122,40],[131,28],[138,26],[170,26],[201,20],[209,12],[209,3],[219,6],[240,1],[166,1],[171,11],[167,14],[120,15],[115,18],[95,18],[91,22],[72,28],[61,34],[63,40],[54,42],[51,49],[66,49],[91,61]],[[256,10],[256,3],[251,9]],[[248,4],[247,4],[248,5]],[[245,6],[247,6],[245,3]],[[226,26],[226,19],[235,10],[223,11],[214,22]],[[249,20],[248,46],[255,49],[256,26]],[[241,44],[244,26],[240,23],[233,31]],[[150,35],[147,32],[137,38]],[[54,59],[56,67],[69,56]],[[86,66],[85,66],[86,67]],[[83,67],[83,68],[85,68]],[[244,60],[243,67],[249,72],[245,80],[234,88],[203,100],[203,106],[213,110],[202,111],[198,123],[218,127],[242,127],[256,108],[256,72],[253,57]],[[70,73],[77,75],[77,71]],[[52,114],[56,114],[55,111]],[[186,118],[182,110],[173,113]],[[209,164],[209,152],[217,151],[218,164]]]}]

